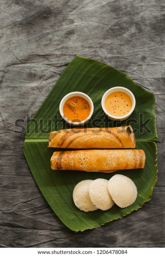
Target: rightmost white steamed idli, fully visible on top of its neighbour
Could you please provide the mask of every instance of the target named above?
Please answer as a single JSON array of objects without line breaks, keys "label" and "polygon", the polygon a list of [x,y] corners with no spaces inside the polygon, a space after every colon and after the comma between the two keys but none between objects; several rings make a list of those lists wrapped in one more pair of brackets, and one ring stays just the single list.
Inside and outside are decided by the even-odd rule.
[{"label": "rightmost white steamed idli, fully visible on top of its neighbour", "polygon": [[108,181],[108,190],[115,204],[121,208],[130,206],[137,198],[137,187],[134,182],[121,174],[114,175]]}]

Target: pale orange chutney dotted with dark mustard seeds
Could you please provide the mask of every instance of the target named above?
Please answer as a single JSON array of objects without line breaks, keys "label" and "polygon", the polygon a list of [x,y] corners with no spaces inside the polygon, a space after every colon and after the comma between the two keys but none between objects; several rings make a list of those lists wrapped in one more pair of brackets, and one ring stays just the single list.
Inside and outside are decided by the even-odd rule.
[{"label": "pale orange chutney dotted with dark mustard seeds", "polygon": [[112,92],[105,99],[105,108],[113,116],[125,116],[132,109],[132,100],[125,92]]}]

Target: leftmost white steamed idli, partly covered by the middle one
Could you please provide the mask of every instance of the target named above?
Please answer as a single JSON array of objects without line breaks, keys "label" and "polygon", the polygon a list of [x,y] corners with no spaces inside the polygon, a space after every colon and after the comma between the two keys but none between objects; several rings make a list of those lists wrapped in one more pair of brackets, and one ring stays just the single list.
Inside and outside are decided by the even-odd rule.
[{"label": "leftmost white steamed idli, partly covered by the middle one", "polygon": [[80,181],[73,190],[73,201],[82,211],[95,211],[98,208],[94,206],[89,196],[89,186],[93,180]]}]

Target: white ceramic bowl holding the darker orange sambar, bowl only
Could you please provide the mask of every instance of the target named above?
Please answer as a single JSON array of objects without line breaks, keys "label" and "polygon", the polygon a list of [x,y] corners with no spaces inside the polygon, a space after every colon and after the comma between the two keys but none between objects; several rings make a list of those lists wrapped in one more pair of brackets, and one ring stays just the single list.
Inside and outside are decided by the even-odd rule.
[{"label": "white ceramic bowl holding the darker orange sambar, bowl only", "polygon": [[[89,102],[89,104],[90,104],[90,114],[87,117],[87,119],[85,119],[85,120],[83,120],[81,122],[72,122],[69,119],[67,119],[64,116],[64,113],[63,113],[64,102],[66,102],[66,100],[68,100],[68,98],[70,98],[72,96],[75,96],[75,95],[76,96],[81,96],[81,97],[85,98],[85,100],[87,100]],[[66,121],[66,123],[68,123],[71,126],[82,126],[85,123],[87,123],[90,120],[90,118],[91,118],[91,116],[93,114],[93,110],[94,110],[94,106],[93,106],[93,102],[92,102],[91,98],[88,95],[86,95],[85,93],[83,93],[83,92],[70,92],[70,93],[66,94],[64,96],[64,98],[62,98],[62,100],[61,100],[61,102],[59,104],[59,111],[60,111],[60,114],[61,114],[62,118]]]}]

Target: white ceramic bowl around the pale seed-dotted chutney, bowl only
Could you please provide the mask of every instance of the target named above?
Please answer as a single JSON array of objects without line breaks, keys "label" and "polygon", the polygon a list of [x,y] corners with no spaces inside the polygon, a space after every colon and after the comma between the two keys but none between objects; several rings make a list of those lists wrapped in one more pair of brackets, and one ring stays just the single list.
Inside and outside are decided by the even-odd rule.
[{"label": "white ceramic bowl around the pale seed-dotted chutney, bowl only", "polygon": [[[132,100],[132,108],[130,110],[130,112],[128,114],[126,114],[125,116],[113,116],[111,114],[109,114],[108,111],[106,111],[106,108],[105,108],[105,99],[108,95],[110,95],[112,92],[125,92],[127,95],[130,96],[131,100]],[[136,104],[136,100],[135,100],[135,97],[133,95],[133,93],[128,90],[127,88],[125,87],[121,87],[121,86],[117,86],[117,87],[113,87],[109,90],[107,90],[103,97],[102,97],[102,100],[101,100],[101,106],[102,106],[102,109],[104,111],[104,113],[112,120],[116,120],[116,121],[123,121],[125,119],[127,119],[128,117],[130,117],[130,115],[132,114],[132,112],[134,111],[134,108],[135,108],[135,104]]]}]

